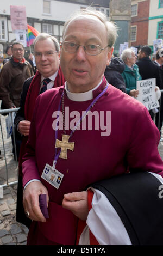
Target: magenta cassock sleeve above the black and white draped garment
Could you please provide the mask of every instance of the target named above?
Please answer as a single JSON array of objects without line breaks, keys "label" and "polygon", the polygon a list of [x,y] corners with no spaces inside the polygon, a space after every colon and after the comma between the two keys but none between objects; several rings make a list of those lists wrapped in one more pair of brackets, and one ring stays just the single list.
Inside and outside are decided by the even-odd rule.
[{"label": "magenta cassock sleeve above the black and white draped garment", "polygon": [[158,152],[159,140],[160,132],[144,107],[134,125],[129,144],[127,161],[130,171],[141,169],[163,177],[163,162]]}]

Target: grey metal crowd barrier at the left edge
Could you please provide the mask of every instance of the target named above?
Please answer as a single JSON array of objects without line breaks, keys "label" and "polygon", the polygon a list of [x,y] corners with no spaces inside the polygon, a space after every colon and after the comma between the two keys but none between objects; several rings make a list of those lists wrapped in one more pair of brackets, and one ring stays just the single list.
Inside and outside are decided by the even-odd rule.
[{"label": "grey metal crowd barrier at the left edge", "polygon": [[[17,184],[18,180],[9,182],[8,177],[8,164],[7,164],[7,155],[5,151],[5,145],[4,145],[4,136],[3,136],[3,130],[2,130],[2,122],[1,122],[1,114],[8,114],[17,112],[20,108],[10,108],[10,109],[0,109],[0,126],[1,126],[1,136],[2,136],[2,143],[3,143],[3,151],[4,151],[4,160],[5,160],[5,169],[6,169],[6,184],[1,185],[0,187],[8,187]],[[18,161],[17,161],[17,154],[16,154],[16,141],[15,141],[15,131],[14,131],[14,120],[11,115],[11,121],[12,121],[12,134],[13,134],[13,140],[14,140],[14,149],[15,149],[15,159],[16,159],[16,170],[17,170],[17,178],[18,178]]]}]

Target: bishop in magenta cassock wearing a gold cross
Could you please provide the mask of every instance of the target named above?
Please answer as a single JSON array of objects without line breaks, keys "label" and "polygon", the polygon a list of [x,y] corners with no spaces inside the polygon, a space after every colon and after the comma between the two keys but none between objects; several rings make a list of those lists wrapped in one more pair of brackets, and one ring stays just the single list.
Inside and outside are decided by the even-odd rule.
[{"label": "bishop in magenta cassock wearing a gold cross", "polygon": [[[113,48],[106,46],[106,27],[97,13],[87,15],[85,11],[70,20],[64,30],[60,65],[65,85],[48,90],[36,100],[22,164],[24,210],[33,220],[28,245],[86,244],[83,238],[78,241],[77,233],[80,233],[78,223],[87,219],[91,209],[87,199],[80,198],[81,193],[90,197],[90,192],[85,191],[90,184],[138,171],[152,172],[160,178],[163,175],[163,162],[158,153],[159,131],[145,106],[107,84],[103,74]],[[92,127],[86,123],[88,119],[83,117],[86,110],[87,116],[94,112],[98,117],[99,129],[96,118],[92,118]],[[80,117],[74,121],[75,113]],[[74,123],[78,127],[72,131]],[[67,139],[65,135],[71,137]],[[63,145],[67,149],[59,157]],[[55,171],[48,180],[45,176],[51,167]],[[60,179],[56,181],[55,175],[60,175]],[[47,196],[49,218],[41,214],[40,194]],[[78,195],[77,209],[73,196]],[[122,223],[116,227],[120,227],[122,240],[117,238],[116,243],[113,239],[110,244],[131,244]],[[94,244],[101,243],[102,239],[96,239]]]}]

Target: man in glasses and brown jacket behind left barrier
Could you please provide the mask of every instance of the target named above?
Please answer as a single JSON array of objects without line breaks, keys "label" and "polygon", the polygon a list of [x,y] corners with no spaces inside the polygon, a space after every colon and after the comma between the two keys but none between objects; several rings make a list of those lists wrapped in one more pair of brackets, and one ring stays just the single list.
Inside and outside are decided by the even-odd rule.
[{"label": "man in glasses and brown jacket behind left barrier", "polygon": [[[24,56],[24,46],[20,42],[14,42],[11,47],[12,56],[3,66],[0,75],[0,99],[2,109],[20,107],[21,91],[24,81],[33,76],[33,69]],[[14,140],[12,137],[13,154]],[[17,157],[20,150],[20,141],[16,140]]]}]

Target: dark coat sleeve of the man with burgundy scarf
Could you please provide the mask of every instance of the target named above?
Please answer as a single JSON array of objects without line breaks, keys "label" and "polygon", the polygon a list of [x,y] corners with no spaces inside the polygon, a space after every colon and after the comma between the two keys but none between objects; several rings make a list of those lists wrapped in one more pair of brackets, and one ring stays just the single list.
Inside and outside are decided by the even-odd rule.
[{"label": "dark coat sleeve of the man with burgundy scarf", "polygon": [[30,83],[32,82],[34,76],[28,78],[24,83],[23,83],[23,88],[22,88],[22,93],[21,93],[21,100],[20,100],[20,109],[17,111],[15,119],[14,119],[14,129],[15,129],[15,136],[17,139],[21,139],[22,136],[21,134],[17,131],[17,125],[20,121],[25,120],[25,115],[24,115],[24,106],[26,102],[26,96],[28,93],[28,89],[30,86]]}]

